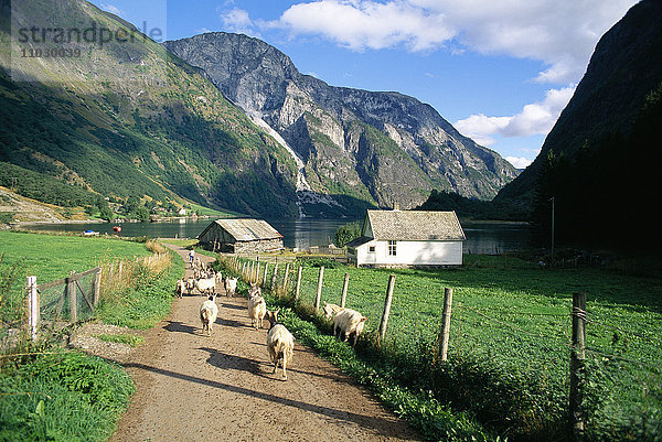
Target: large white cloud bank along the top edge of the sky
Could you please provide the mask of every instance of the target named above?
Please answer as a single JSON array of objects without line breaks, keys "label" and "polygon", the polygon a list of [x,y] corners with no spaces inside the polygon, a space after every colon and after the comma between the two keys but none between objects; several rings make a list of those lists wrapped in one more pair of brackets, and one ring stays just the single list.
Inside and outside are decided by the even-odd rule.
[{"label": "large white cloud bank along the top edge of the sky", "polygon": [[[537,80],[579,80],[598,39],[637,0],[317,0],[270,25],[324,36],[355,51],[404,45],[430,51],[455,42],[484,54],[545,63]],[[455,48],[453,48],[455,47]]]}]

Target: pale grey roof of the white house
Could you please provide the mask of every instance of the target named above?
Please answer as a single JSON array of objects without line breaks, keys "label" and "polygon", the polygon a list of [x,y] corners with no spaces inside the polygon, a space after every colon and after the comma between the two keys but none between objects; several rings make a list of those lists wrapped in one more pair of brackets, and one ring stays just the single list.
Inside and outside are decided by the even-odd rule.
[{"label": "pale grey roof of the white house", "polygon": [[465,231],[455,212],[367,211],[375,239],[465,240]]}]

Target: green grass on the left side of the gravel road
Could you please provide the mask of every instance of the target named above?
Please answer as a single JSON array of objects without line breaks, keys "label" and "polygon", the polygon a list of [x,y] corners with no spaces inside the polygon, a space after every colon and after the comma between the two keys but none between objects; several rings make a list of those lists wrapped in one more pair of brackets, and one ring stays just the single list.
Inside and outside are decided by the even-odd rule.
[{"label": "green grass on the left side of the gravel road", "polygon": [[[11,330],[20,330],[26,276],[47,282],[96,266],[103,270],[94,317],[134,328],[153,326],[170,311],[174,281],[184,272],[183,261],[172,255],[153,241],[0,231],[3,345]],[[50,320],[44,316],[42,311],[42,320]],[[97,337],[141,343],[140,336]],[[99,441],[113,434],[134,391],[130,377],[116,364],[58,344],[58,336],[43,331],[38,343],[1,348],[0,441]]]}]

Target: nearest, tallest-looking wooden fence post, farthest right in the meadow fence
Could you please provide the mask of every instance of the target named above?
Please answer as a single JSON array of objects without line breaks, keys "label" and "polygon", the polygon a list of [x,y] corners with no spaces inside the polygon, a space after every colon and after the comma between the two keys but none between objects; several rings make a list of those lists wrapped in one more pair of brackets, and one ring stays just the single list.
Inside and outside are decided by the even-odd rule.
[{"label": "nearest, tallest-looking wooden fence post, farthest right in the meadow fence", "polygon": [[584,440],[584,380],[586,359],[586,293],[573,293],[573,348],[570,352],[570,431],[573,440]]}]

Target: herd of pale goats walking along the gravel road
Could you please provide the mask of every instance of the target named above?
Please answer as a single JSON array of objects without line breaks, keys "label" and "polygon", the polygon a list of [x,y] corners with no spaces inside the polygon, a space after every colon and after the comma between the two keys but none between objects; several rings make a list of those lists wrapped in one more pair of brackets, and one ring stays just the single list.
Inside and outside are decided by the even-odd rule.
[{"label": "herd of pale goats walking along the gravel road", "polygon": [[[223,279],[221,272],[214,271],[212,267],[207,268],[200,258],[195,258],[191,262],[191,267],[193,268],[193,276],[177,281],[177,295],[182,298],[184,293],[194,294],[197,292],[201,295],[207,297],[200,306],[200,321],[202,322],[202,333],[211,336],[213,324],[216,322],[218,315],[216,294],[223,288],[225,290],[225,295],[234,297],[236,294],[238,279],[229,277]],[[282,367],[282,379],[287,380],[286,367],[292,359],[295,337],[285,325],[278,323],[279,310],[267,310],[267,304],[261,295],[259,285],[252,283],[247,294],[250,325],[255,327],[255,330],[259,330],[265,320],[269,323],[267,349],[269,352],[269,358],[274,364],[273,373],[276,373],[278,365],[280,364]],[[333,319],[333,336],[338,336],[343,342],[351,339],[352,346],[355,346],[359,336],[363,332],[363,326],[367,317],[355,310],[344,309],[340,305],[327,302],[324,302],[323,310],[328,320]]]}]

